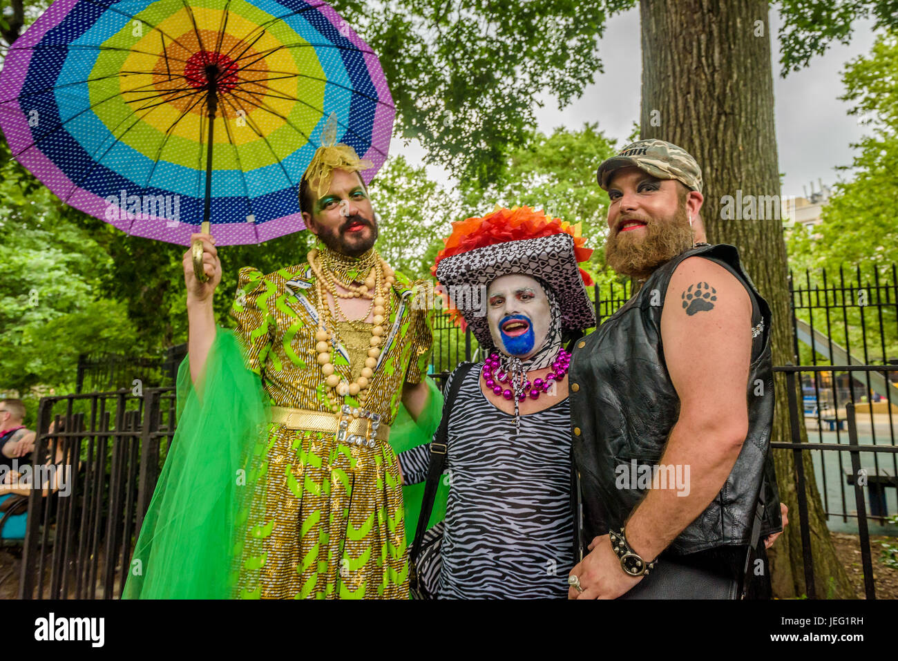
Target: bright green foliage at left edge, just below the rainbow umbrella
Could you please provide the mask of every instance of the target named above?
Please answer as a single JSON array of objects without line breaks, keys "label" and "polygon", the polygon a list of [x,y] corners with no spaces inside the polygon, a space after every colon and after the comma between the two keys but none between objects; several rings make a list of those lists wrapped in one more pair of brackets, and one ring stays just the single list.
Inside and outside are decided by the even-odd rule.
[{"label": "bright green foliage at left edge, just below the rainbow umbrella", "polygon": [[92,233],[0,147],[0,365],[4,389],[73,386],[80,351],[127,351],[124,306],[98,298],[109,255]]}]

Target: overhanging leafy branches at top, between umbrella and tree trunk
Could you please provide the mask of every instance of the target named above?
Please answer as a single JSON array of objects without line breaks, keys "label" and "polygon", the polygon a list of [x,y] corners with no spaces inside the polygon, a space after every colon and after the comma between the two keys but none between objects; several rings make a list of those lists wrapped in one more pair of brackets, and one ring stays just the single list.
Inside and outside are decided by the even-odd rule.
[{"label": "overhanging leafy branches at top, between umbrella and tree trunk", "polygon": [[334,3],[380,54],[398,133],[428,163],[487,184],[526,145],[541,95],[568,105],[601,72],[596,40],[634,0]]}]

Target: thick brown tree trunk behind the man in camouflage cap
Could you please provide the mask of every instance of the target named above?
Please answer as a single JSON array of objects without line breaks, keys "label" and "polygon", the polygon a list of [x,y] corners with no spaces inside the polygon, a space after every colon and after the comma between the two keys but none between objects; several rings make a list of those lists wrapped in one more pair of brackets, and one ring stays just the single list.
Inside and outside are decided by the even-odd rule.
[{"label": "thick brown tree trunk behind the man in camouflage cap", "polygon": [[[774,365],[796,362],[786,244],[779,220],[779,167],[773,120],[768,0],[640,0],[641,137],[680,145],[704,175],[701,217],[711,243],[737,246],[773,314]],[[777,196],[766,209],[724,214],[724,196]],[[755,198],[757,199],[757,198]],[[777,375],[772,441],[790,441],[785,379]],[[800,399],[798,400],[800,401]],[[803,418],[799,417],[799,420]],[[806,431],[801,426],[801,438]],[[808,518],[818,597],[855,596],[826,527],[810,453],[805,455]],[[793,454],[775,453],[780,498],[791,523],[771,549],[774,595],[806,594]]]}]

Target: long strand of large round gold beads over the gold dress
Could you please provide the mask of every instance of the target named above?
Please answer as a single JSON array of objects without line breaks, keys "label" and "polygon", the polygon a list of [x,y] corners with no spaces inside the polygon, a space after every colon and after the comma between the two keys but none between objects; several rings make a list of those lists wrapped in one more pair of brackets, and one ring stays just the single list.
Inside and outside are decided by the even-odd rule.
[{"label": "long strand of large round gold beads over the gold dress", "polygon": [[[380,258],[380,255],[374,250],[371,253],[374,255],[374,266],[369,269],[368,277],[365,278],[365,284],[354,288],[351,284],[340,282],[336,278],[336,274],[330,271],[330,269],[322,268],[319,261],[319,251],[309,251],[309,265],[312,267],[316,277],[318,305],[321,311],[321,327],[315,332],[315,350],[318,352],[318,364],[321,366],[321,374],[324,375],[324,396],[330,405],[330,410],[334,413],[339,413],[340,407],[339,404],[331,401],[329,390],[336,392],[341,398],[347,395],[356,397],[359,406],[364,407],[368,398],[368,385],[374,377],[374,366],[377,365],[377,358],[381,354],[380,344],[383,342],[385,332],[383,322],[389,318],[390,289],[393,282],[395,282],[395,274],[390,266]],[[380,268],[377,268],[378,266]],[[370,271],[374,271],[374,273]],[[330,279],[328,276],[330,276]],[[371,287],[367,286],[369,281],[371,282]],[[344,295],[339,291],[338,284],[349,289],[352,294]],[[353,289],[358,292],[357,295],[355,295]],[[370,295],[369,290],[371,290]],[[342,381],[336,373],[336,368],[330,361],[330,350],[336,347],[339,339],[337,338],[336,324],[325,291],[330,292],[334,303],[338,307],[339,298],[358,296],[371,298],[372,307],[370,311],[374,313],[374,325],[372,326],[371,339],[369,340],[371,348],[368,349],[368,357],[365,358],[365,367],[362,368],[361,375],[353,383]],[[342,310],[340,312],[342,313]],[[365,313],[363,319],[366,318],[367,313]]]}]

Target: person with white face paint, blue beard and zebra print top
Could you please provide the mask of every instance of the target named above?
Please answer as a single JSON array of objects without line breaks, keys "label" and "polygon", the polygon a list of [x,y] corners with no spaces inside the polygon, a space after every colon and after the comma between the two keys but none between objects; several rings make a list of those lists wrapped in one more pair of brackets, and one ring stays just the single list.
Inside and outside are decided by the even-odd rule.
[{"label": "person with white face paint, blue beard and zebra print top", "polygon": [[[453,304],[489,357],[444,410],[445,532],[418,576],[439,598],[566,598],[576,545],[562,338],[594,324],[577,269],[591,251],[577,228],[527,207],[453,227],[436,277],[450,292],[485,291],[485,309]],[[429,454],[399,454],[407,484],[427,480]]]}]

